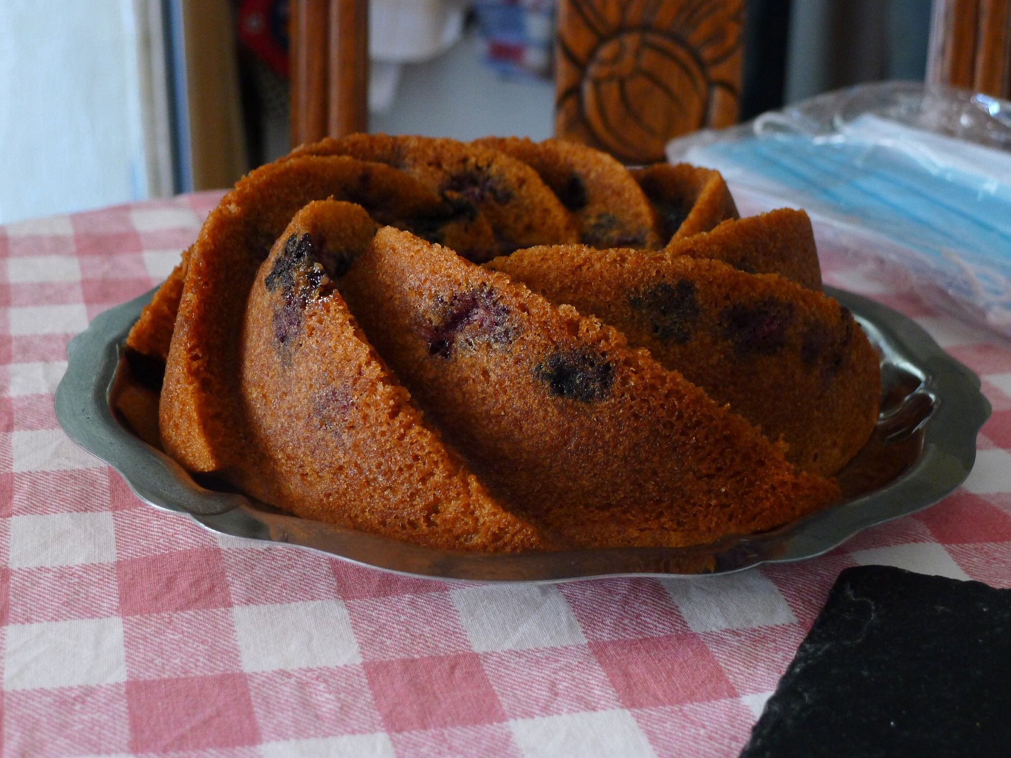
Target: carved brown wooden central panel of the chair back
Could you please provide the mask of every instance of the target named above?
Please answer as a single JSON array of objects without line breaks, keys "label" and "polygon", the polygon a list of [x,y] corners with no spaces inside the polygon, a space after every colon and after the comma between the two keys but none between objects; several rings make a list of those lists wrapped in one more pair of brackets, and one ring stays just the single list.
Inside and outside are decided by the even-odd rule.
[{"label": "carved brown wooden central panel of the chair back", "polygon": [[737,121],[742,0],[560,0],[555,135],[626,163]]}]

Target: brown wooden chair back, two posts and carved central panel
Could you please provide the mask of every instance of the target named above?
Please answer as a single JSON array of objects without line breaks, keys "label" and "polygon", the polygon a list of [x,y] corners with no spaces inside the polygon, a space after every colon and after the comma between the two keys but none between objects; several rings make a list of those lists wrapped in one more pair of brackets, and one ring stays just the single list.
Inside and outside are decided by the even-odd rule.
[{"label": "brown wooden chair back, two posts and carved central panel", "polygon": [[[1008,96],[1011,0],[934,0],[928,81]],[[555,135],[619,160],[738,117],[744,0],[559,0]],[[368,126],[368,0],[291,0],[291,139]]]}]

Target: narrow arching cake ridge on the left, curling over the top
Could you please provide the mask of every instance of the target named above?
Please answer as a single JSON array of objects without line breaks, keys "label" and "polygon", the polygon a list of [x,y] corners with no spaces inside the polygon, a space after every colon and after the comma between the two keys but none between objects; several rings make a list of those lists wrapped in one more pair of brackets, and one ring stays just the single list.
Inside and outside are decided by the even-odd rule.
[{"label": "narrow arching cake ridge on the left, curling over the top", "polygon": [[236,360],[246,297],[291,217],[326,197],[359,202],[377,218],[420,217],[443,207],[441,198],[402,172],[342,156],[270,164],[240,180],[193,247],[169,349],[162,439],[187,468],[224,468],[242,447]]}]

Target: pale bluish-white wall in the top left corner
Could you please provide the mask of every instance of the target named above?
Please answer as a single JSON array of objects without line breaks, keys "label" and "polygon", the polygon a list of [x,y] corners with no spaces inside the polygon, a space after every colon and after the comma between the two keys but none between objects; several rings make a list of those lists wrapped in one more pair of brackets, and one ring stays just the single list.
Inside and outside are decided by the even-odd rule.
[{"label": "pale bluish-white wall in the top left corner", "polygon": [[147,195],[132,0],[0,0],[0,223]]}]

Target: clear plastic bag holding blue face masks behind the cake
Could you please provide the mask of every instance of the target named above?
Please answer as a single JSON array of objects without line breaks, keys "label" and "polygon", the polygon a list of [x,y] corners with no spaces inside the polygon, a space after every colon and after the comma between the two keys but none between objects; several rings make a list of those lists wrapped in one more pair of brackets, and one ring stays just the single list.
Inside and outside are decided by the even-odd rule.
[{"label": "clear plastic bag holding blue face masks behind the cake", "polygon": [[1011,103],[912,83],[821,95],[667,146],[737,192],[806,209],[936,304],[1011,337]]}]

